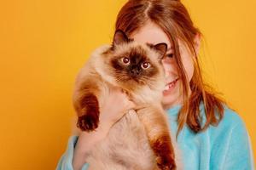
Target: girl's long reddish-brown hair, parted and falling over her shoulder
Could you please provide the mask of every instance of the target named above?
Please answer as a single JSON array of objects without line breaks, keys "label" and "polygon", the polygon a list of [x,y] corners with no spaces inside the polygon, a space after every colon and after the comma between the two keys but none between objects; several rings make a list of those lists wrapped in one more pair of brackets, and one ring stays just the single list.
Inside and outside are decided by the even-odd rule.
[{"label": "girl's long reddish-brown hair, parted and falling over her shoulder", "polygon": [[[224,100],[203,82],[194,42],[195,36],[201,35],[201,31],[194,26],[187,9],[179,0],[130,0],[120,9],[115,29],[125,31],[129,36],[143,27],[148,20],[160,26],[172,43],[177,72],[182,81],[183,105],[177,117],[177,134],[185,124],[195,133],[206,129],[210,124],[217,126],[224,115]],[[183,67],[178,40],[182,40],[191,54],[195,55],[195,71],[190,82]],[[206,113],[203,126],[200,116],[201,102]]]}]

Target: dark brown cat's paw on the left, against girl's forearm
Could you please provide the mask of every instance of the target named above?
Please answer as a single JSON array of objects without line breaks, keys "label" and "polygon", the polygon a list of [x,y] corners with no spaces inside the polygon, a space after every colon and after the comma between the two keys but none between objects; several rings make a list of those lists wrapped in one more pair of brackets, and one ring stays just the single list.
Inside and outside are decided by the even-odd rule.
[{"label": "dark brown cat's paw on the left, against girl's forearm", "polygon": [[79,127],[82,131],[93,131],[98,127],[99,124],[99,118],[95,115],[84,115],[79,116],[79,120],[77,122],[77,127]]}]

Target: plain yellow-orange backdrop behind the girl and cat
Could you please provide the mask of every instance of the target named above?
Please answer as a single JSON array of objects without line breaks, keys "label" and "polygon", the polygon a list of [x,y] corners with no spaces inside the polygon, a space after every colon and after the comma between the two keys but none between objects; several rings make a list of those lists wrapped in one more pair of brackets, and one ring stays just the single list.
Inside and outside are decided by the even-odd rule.
[{"label": "plain yellow-orange backdrop behind the girl and cat", "polygon": [[[0,169],[55,168],[71,133],[74,78],[91,50],[111,41],[124,3],[1,1]],[[239,112],[255,153],[256,1],[183,3],[205,37],[207,80]]]}]

